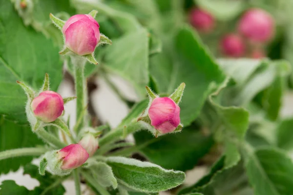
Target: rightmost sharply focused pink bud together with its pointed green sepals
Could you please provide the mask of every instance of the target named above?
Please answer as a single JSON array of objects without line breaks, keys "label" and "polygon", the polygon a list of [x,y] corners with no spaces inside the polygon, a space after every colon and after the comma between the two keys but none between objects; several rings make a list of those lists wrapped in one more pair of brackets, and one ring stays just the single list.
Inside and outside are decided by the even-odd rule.
[{"label": "rightmost sharply focused pink bud together with its pointed green sepals", "polygon": [[147,129],[155,137],[163,134],[180,132],[183,124],[180,123],[180,107],[178,104],[183,96],[185,83],[180,86],[169,97],[159,97],[146,87],[149,104],[142,117],[138,121],[147,125]]}]

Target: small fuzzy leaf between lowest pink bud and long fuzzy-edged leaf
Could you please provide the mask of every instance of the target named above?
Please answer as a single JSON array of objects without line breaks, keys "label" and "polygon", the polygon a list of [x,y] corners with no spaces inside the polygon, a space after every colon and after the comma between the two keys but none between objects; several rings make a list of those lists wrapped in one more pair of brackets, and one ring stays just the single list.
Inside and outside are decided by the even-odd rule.
[{"label": "small fuzzy leaf between lowest pink bud and long fuzzy-edged leaf", "polygon": [[113,175],[112,168],[104,162],[97,162],[91,169],[97,181],[104,187],[118,187],[117,180]]}]

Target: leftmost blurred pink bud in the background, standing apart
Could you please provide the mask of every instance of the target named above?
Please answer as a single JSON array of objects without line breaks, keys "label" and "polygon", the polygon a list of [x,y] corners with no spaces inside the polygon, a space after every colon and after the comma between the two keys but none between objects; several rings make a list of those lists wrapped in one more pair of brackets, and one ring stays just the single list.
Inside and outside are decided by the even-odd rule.
[{"label": "leftmost blurred pink bud in the background, standing apart", "polygon": [[189,13],[189,22],[191,25],[199,31],[210,32],[214,27],[213,16],[202,9],[193,8]]}]

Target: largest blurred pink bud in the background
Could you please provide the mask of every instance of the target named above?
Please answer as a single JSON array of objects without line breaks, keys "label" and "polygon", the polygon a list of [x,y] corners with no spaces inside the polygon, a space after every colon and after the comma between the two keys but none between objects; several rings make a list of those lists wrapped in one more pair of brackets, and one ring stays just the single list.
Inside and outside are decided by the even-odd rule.
[{"label": "largest blurred pink bud in the background", "polygon": [[274,20],[264,10],[251,9],[240,19],[238,31],[252,41],[266,42],[273,37]]}]

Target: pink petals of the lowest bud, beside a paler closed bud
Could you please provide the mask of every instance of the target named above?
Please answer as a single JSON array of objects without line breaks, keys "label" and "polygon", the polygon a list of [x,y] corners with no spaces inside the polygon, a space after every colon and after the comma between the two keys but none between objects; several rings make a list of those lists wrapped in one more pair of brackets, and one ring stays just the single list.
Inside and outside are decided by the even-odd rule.
[{"label": "pink petals of the lowest bud, beside a paler closed bud", "polygon": [[88,158],[88,153],[79,144],[70,144],[58,152],[59,157],[63,163],[61,169],[75,169],[84,164]]}]

